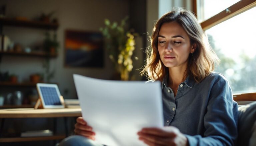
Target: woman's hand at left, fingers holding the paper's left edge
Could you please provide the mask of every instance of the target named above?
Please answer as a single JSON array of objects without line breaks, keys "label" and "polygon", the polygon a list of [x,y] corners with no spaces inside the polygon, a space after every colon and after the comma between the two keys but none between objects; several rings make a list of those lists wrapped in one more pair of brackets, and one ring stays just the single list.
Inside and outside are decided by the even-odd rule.
[{"label": "woman's hand at left, fingers holding the paper's left edge", "polygon": [[78,117],[75,124],[75,134],[82,135],[92,140],[95,140],[95,132],[92,131],[92,127],[87,125],[87,122],[83,117]]}]

